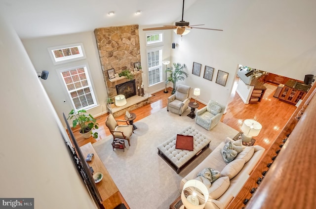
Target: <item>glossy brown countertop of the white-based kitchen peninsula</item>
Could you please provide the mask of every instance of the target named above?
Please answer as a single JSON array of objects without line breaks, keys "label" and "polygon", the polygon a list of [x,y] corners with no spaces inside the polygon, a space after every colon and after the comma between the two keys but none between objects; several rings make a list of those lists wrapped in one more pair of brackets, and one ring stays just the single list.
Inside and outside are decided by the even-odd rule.
[{"label": "glossy brown countertop of the white-based kitchen peninsula", "polygon": [[249,86],[254,86],[254,89],[267,89],[265,86],[263,86],[264,82],[262,81],[266,72],[258,70],[257,73],[253,73],[248,77],[245,75],[246,73],[248,73],[247,70],[237,71],[237,75],[243,81],[243,83]]}]

